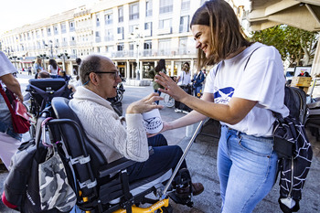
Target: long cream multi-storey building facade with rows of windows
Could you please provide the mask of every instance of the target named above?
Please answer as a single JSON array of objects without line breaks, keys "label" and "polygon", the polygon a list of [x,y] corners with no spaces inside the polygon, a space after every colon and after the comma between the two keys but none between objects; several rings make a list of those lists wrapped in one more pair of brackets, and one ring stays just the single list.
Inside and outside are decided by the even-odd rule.
[{"label": "long cream multi-storey building facade with rows of windows", "polygon": [[[148,71],[165,59],[175,76],[188,61],[196,72],[197,49],[190,21],[205,0],[101,0],[18,27],[1,36],[0,48],[17,69],[37,56],[56,59],[71,74],[76,58],[91,53],[109,57],[129,79],[148,79]],[[229,1],[238,14],[242,7]]]}]

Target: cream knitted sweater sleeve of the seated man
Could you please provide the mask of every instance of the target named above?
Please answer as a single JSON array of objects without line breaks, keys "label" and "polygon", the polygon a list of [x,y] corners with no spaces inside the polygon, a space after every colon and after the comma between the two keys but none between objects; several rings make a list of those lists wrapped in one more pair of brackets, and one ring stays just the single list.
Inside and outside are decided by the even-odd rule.
[{"label": "cream knitted sweater sleeve of the seated man", "polygon": [[148,159],[148,142],[141,114],[127,114],[126,129],[111,109],[91,101],[79,104],[80,121],[97,143],[133,161],[143,162]]}]

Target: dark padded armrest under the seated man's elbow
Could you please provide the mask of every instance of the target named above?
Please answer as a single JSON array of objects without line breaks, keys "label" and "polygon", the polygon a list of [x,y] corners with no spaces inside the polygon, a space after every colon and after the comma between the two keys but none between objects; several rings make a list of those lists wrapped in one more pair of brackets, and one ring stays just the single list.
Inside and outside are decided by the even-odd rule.
[{"label": "dark padded armrest under the seated man's elbow", "polygon": [[110,176],[111,174],[123,170],[135,163],[135,161],[129,160],[125,157],[120,158],[108,165],[101,166],[101,169],[99,170],[99,177]]}]

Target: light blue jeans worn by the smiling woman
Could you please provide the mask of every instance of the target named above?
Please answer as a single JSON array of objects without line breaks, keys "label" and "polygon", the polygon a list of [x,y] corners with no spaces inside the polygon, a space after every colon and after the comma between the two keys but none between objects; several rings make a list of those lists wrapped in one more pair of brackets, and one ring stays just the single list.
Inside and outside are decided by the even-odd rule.
[{"label": "light blue jeans worn by the smiling woman", "polygon": [[276,178],[272,138],[254,137],[223,125],[217,157],[221,212],[251,212]]}]

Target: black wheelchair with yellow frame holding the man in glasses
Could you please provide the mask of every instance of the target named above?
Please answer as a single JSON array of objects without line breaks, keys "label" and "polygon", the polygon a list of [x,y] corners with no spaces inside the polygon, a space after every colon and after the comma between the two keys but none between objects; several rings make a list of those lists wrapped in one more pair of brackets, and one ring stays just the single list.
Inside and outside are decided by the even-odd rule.
[{"label": "black wheelchair with yellow frame holding the man in glasses", "polygon": [[[73,183],[78,208],[92,213],[173,212],[169,197],[177,204],[193,206],[191,177],[186,168],[179,169],[176,176],[170,169],[129,183],[126,168],[135,162],[121,158],[108,163],[84,133],[79,118],[69,108],[69,100],[56,97],[51,106],[55,119],[48,122],[48,128],[53,141],[61,141],[65,147],[72,171],[68,175],[69,183]],[[176,188],[186,184],[189,194],[176,194]]]}]

